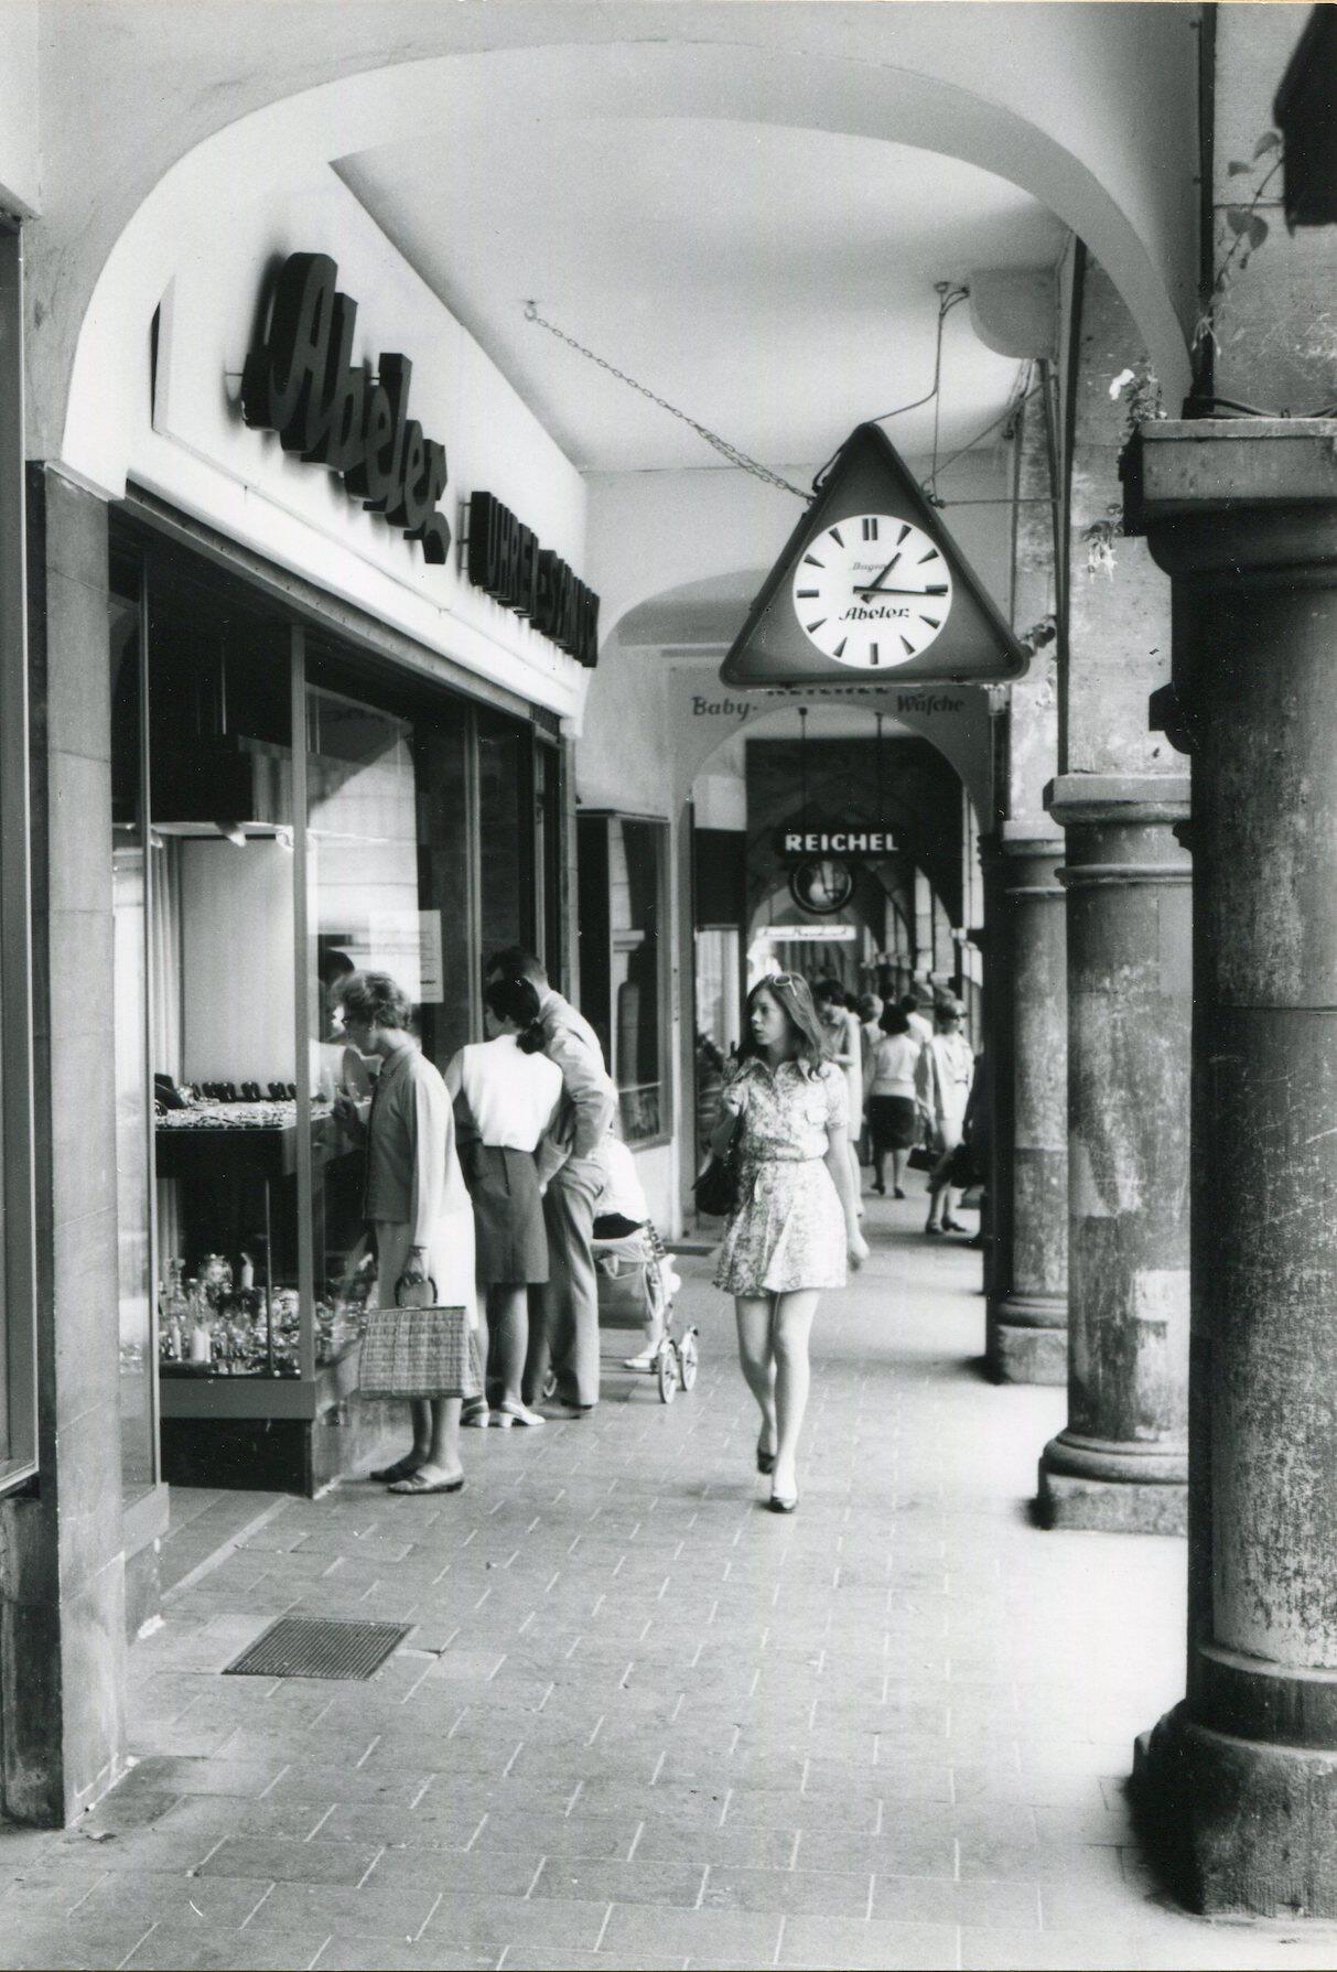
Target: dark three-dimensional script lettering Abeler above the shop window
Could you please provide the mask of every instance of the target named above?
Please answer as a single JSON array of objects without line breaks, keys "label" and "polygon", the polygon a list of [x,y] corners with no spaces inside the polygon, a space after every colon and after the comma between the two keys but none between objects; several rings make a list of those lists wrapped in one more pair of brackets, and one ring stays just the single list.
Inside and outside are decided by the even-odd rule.
[{"label": "dark three-dimensional script lettering Abeler above the shop window", "polygon": [[246,357],[241,414],[252,430],[278,432],[284,452],[339,473],[349,499],[440,566],[450,550],[450,523],[438,513],[446,448],[408,416],[408,357],[381,355],[375,379],[353,361],[357,302],[337,280],[327,254],[288,256],[264,341]]}]

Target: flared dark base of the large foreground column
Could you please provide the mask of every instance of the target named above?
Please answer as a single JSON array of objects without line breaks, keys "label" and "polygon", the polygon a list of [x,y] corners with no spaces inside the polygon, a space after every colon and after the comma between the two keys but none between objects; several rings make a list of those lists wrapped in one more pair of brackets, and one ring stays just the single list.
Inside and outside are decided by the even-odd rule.
[{"label": "flared dark base of the large foreground column", "polygon": [[1205,1917],[1337,1917],[1337,1749],[1236,1739],[1175,1706],[1134,1751],[1140,1832]]}]

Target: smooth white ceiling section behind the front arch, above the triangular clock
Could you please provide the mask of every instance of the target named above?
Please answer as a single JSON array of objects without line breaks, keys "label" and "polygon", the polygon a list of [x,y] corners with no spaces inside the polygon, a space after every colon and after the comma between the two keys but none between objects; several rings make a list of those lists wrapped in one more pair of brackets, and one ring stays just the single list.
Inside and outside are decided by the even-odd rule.
[{"label": "smooth white ceiling section behind the front arch, above the triangular clock", "polygon": [[[1053,268],[1067,243],[1037,199],[958,158],[726,118],[536,120],[493,105],[339,172],[586,471],[712,454],[528,323],[525,298],[753,458],[822,459],[929,388],[935,282]],[[1016,373],[964,308],[949,316],[945,452],[1002,410]],[[933,406],[893,434],[927,452]]]}]

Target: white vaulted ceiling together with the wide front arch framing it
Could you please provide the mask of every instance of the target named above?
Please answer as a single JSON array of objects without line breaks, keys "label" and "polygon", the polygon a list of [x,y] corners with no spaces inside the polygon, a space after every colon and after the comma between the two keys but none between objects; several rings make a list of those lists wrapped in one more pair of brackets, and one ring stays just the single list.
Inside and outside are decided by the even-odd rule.
[{"label": "white vaulted ceiling together with the wide front arch framing it", "polygon": [[[519,325],[534,288],[734,442],[822,456],[925,377],[933,278],[986,245],[994,266],[1051,262],[1047,213],[1100,258],[1173,396],[1195,270],[1193,12],[49,0],[30,446],[114,493],[105,379],[142,349],[181,243],[337,160],[582,463],[661,469],[682,434],[540,353]],[[481,166],[467,179],[456,130]],[[1006,365],[964,310],[950,335],[964,432]]]}]

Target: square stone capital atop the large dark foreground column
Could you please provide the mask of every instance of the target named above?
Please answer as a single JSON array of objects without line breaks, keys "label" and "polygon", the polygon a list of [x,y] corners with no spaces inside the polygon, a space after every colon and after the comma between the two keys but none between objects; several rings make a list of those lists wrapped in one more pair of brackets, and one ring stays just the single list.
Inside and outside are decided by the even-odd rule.
[{"label": "square stone capital atop the large dark foreground column", "polygon": [[1124,527],[1169,576],[1337,582],[1337,418],[1165,418],[1122,463]]}]

